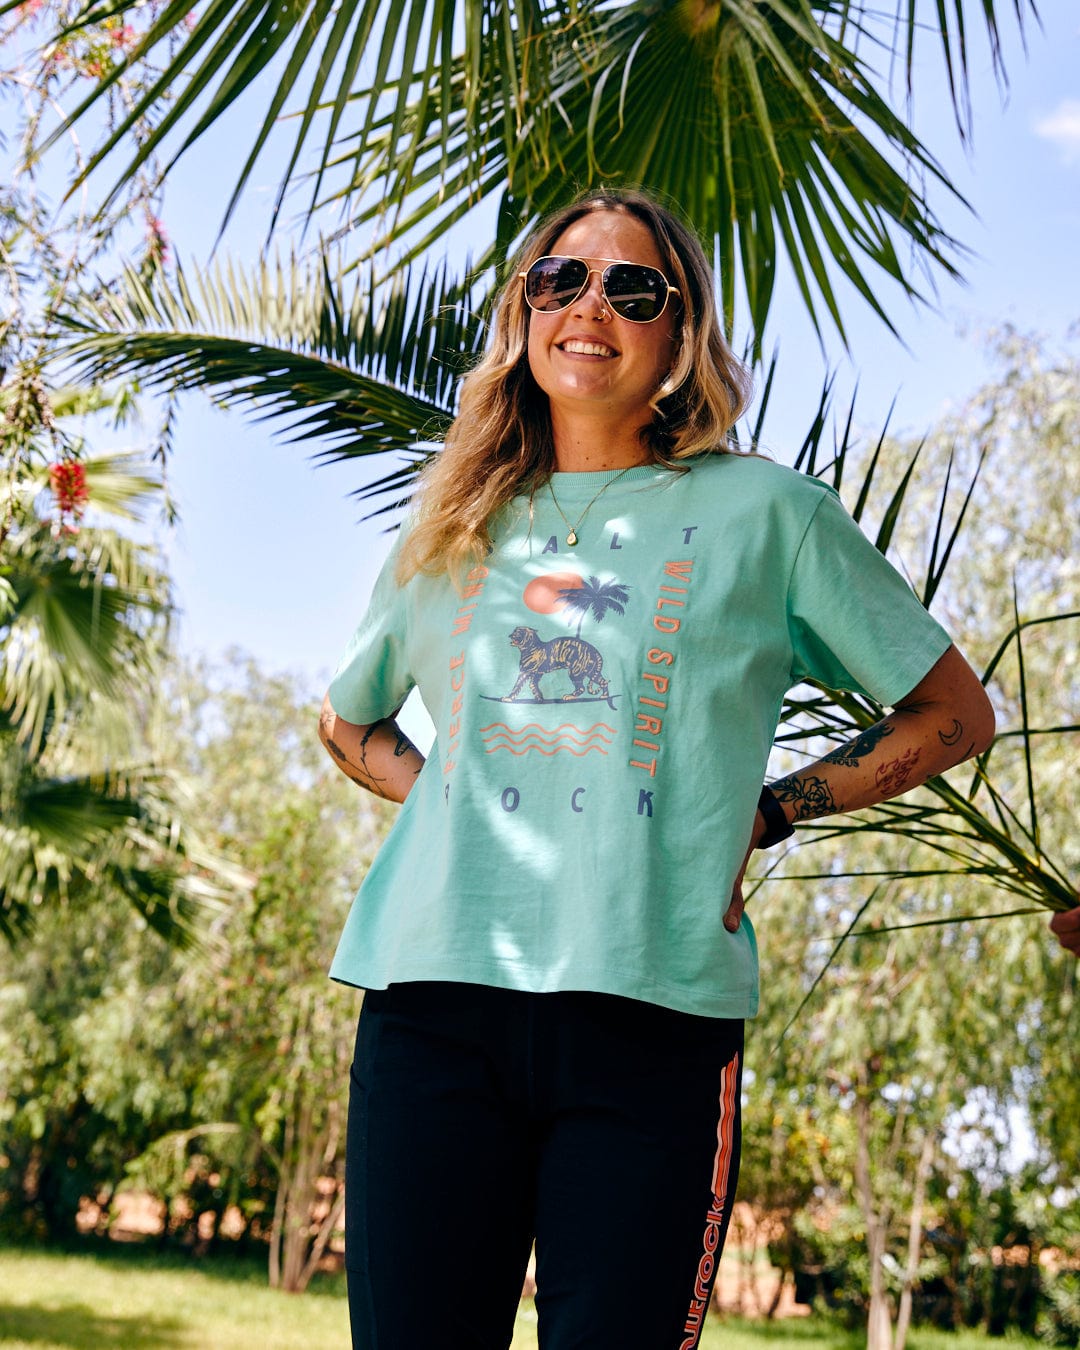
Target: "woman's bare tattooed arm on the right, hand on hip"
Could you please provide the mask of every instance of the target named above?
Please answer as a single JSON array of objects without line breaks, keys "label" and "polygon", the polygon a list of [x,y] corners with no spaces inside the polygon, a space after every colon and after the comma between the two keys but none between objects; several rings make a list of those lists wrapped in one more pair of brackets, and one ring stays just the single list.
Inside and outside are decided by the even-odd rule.
[{"label": "woman's bare tattooed arm on the right, hand on hip", "polygon": [[[950,647],[880,722],[768,786],[787,819],[796,825],[899,796],[953,764],[980,755],[992,740],[994,707],[979,676],[960,651]],[[748,860],[764,836],[765,822],[757,811]],[[724,926],[734,932],[741,917],[742,872]]]}]

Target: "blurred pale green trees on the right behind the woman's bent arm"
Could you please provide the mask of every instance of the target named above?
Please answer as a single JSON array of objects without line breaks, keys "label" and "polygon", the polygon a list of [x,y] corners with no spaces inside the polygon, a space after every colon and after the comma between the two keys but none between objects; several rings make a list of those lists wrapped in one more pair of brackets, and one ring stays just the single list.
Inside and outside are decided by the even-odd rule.
[{"label": "blurred pale green trees on the right behind the woman's bent arm", "polygon": [[[1054,452],[1080,431],[1080,366],[1010,332],[998,352],[1000,375],[922,443],[892,533],[918,585],[933,571],[925,521],[946,466],[981,460],[936,603],[987,666],[1015,622],[1014,583],[1025,614],[1025,590],[1052,616],[1075,613],[1080,543],[1075,456]],[[888,456],[882,500],[915,448]],[[1031,463],[1044,466],[1034,482]],[[963,919],[995,913],[972,852],[980,817],[1029,859],[1042,849],[1060,875],[1077,875],[1069,794],[1080,741],[1061,711],[1076,706],[1080,622],[1029,632],[1038,639],[1025,640],[1026,695],[1015,647],[994,664],[1000,736],[986,779],[948,775],[972,807],[950,857],[942,840],[902,825],[826,824],[752,902],[767,979],[764,1034],[748,1060],[744,1193],[784,1220],[776,1258],[815,1272],[818,1292],[867,1316],[872,1346],[900,1350],[913,1316],[1034,1331],[1058,1297],[1052,1285],[1038,1301],[1040,1247],[1076,1254],[1075,963],[1029,917]],[[913,810],[933,792],[917,794]],[[1007,802],[1018,803],[1011,817]],[[1002,1247],[1026,1260],[995,1264]]]}]

